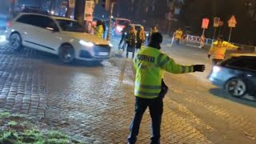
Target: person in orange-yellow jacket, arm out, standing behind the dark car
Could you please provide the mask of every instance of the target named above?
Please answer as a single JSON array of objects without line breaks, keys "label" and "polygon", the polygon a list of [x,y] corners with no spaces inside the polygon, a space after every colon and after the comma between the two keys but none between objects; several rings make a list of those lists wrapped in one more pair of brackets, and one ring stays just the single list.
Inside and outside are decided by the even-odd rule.
[{"label": "person in orange-yellow jacket, arm out, standing behind the dark car", "polygon": [[214,54],[212,59],[213,65],[216,65],[218,62],[222,62],[226,58],[226,50],[240,50],[238,46],[232,45],[230,42],[223,41],[223,36],[218,35],[217,41],[213,43],[208,52],[208,58]]}]

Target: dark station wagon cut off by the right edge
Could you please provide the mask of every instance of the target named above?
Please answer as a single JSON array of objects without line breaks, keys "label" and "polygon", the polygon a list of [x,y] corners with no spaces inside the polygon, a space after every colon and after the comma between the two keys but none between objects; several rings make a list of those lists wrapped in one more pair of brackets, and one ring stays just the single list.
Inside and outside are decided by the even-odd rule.
[{"label": "dark station wagon cut off by the right edge", "polygon": [[230,58],[213,66],[209,79],[234,97],[255,96],[256,54],[230,54]]}]

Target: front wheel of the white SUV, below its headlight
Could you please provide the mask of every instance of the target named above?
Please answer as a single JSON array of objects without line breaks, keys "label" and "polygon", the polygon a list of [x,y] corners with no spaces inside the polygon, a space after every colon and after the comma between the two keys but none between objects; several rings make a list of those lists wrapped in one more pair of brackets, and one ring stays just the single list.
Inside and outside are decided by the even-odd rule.
[{"label": "front wheel of the white SUV, below its headlight", "polygon": [[58,50],[58,57],[64,63],[70,63],[74,60],[74,48],[70,45],[63,45]]}]

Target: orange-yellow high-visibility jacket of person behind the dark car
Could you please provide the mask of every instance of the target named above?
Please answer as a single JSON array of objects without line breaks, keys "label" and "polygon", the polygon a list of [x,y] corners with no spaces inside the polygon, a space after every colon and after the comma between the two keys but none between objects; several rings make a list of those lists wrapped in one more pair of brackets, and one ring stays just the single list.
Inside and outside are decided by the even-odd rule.
[{"label": "orange-yellow high-visibility jacket of person behind the dark car", "polygon": [[238,46],[234,46],[229,42],[214,42],[210,47],[208,54],[214,54],[215,59],[224,59],[226,57],[226,50],[237,50]]}]

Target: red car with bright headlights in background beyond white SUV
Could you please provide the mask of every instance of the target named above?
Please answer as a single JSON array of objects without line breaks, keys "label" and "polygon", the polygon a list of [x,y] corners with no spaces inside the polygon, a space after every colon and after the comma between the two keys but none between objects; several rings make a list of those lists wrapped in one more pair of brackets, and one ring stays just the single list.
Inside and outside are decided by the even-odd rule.
[{"label": "red car with bright headlights in background beyond white SUV", "polygon": [[113,22],[113,29],[112,33],[116,36],[121,36],[122,35],[122,29],[125,26],[130,25],[130,20],[126,18],[112,18]]}]

